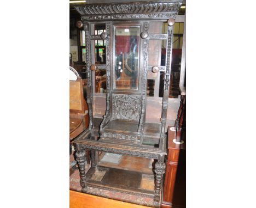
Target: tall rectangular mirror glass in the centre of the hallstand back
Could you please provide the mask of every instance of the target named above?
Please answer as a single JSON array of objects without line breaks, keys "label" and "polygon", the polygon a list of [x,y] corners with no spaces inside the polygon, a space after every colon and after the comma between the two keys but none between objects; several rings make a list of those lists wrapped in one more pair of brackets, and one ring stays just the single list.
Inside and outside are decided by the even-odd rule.
[{"label": "tall rectangular mirror glass in the centre of the hallstand back", "polygon": [[115,88],[138,89],[139,26],[115,26]]}]

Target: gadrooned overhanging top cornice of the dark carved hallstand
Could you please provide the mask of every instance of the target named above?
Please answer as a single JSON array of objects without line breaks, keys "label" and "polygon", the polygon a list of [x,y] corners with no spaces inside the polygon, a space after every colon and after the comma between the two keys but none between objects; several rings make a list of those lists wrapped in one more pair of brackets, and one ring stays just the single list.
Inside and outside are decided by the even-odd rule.
[{"label": "gadrooned overhanging top cornice of the dark carved hallstand", "polygon": [[152,14],[177,12],[181,2],[85,4],[74,8],[80,15]]}]

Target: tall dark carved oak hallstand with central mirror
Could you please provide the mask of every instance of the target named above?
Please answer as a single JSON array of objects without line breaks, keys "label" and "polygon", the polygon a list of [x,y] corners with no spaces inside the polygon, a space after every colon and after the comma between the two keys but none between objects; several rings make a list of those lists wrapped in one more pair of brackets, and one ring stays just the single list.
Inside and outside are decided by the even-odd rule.
[{"label": "tall dark carved oak hallstand with central mirror", "polygon": [[[154,198],[154,206],[160,207],[166,169],[172,30],[182,0],[87,2],[75,7],[85,30],[86,101],[90,118],[88,129],[74,140],[82,191],[88,192],[88,187],[96,187],[143,195]],[[155,22],[168,22],[167,34],[150,33],[150,26]],[[97,24],[104,25],[106,32],[95,35]],[[106,42],[106,64],[95,64],[95,40]],[[166,40],[165,66],[148,64],[149,40]],[[97,69],[105,69],[107,79],[106,113],[100,125],[94,118],[95,93],[92,89]],[[165,73],[160,123],[146,122],[148,71]],[[90,150],[91,159],[87,173],[86,150]],[[155,159],[153,191],[137,186],[141,180],[139,173],[98,164],[97,151]]]}]

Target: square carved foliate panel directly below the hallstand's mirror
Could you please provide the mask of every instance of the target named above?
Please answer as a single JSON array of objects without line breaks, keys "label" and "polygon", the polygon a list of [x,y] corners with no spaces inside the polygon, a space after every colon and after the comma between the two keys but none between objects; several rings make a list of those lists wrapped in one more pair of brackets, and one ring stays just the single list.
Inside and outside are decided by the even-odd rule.
[{"label": "square carved foliate panel directly below the hallstand's mirror", "polygon": [[114,119],[139,120],[141,112],[141,96],[127,94],[112,95]]}]

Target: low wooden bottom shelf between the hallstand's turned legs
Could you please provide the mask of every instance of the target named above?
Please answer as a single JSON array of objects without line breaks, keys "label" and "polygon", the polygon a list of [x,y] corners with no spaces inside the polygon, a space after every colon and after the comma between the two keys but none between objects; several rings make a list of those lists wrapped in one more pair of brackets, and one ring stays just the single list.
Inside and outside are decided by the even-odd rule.
[{"label": "low wooden bottom shelf between the hallstand's turned legs", "polygon": [[86,186],[154,198],[154,175],[131,170],[91,167],[86,174]]}]

